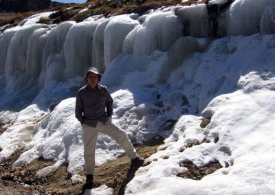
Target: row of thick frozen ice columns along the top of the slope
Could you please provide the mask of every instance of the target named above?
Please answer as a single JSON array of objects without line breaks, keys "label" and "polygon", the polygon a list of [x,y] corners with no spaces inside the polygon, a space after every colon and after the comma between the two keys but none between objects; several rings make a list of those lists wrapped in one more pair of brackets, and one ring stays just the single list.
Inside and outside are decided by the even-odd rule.
[{"label": "row of thick frozen ice columns along the top of the slope", "polygon": [[[210,1],[210,5],[226,2]],[[221,17],[219,29],[228,35],[272,34],[274,6],[272,0],[234,1],[230,8],[217,13]],[[31,16],[21,27],[1,33],[0,74],[5,78],[1,87],[7,94],[33,85],[43,89],[53,80],[63,82],[83,76],[91,66],[104,71],[120,54],[168,51],[180,36],[211,36],[206,4],[160,9],[143,16],[130,14],[109,19],[94,16],[82,23],[65,22],[57,26],[35,24],[39,16],[44,14]],[[188,53],[188,46],[184,49]]]}]

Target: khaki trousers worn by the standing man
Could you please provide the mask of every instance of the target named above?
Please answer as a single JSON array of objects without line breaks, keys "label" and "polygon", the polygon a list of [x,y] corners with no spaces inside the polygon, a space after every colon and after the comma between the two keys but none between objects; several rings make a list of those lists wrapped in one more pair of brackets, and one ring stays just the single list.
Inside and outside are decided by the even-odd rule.
[{"label": "khaki trousers worn by the standing man", "polygon": [[135,157],[137,157],[137,152],[135,151],[135,148],[133,148],[133,144],[129,137],[120,127],[111,122],[111,118],[108,120],[107,124],[98,122],[96,127],[83,124],[82,128],[86,174],[94,174],[96,139],[98,138],[98,132],[109,135],[109,137],[114,139],[125,150],[130,159],[135,159]]}]

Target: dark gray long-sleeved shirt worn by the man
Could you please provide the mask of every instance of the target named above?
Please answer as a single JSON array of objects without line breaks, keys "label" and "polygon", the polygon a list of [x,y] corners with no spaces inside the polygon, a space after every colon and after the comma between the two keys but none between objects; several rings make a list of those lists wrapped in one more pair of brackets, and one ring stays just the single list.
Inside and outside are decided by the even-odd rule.
[{"label": "dark gray long-sleeved shirt worn by the man", "polygon": [[113,98],[100,84],[92,89],[89,84],[78,90],[76,95],[76,118],[81,123],[96,127],[98,121],[106,124],[113,114]]}]

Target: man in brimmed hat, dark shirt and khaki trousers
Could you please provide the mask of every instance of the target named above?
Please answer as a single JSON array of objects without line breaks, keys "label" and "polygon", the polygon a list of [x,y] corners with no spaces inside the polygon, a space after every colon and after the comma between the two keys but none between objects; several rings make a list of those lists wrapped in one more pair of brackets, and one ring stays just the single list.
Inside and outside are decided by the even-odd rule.
[{"label": "man in brimmed hat, dark shirt and khaki trousers", "polygon": [[113,124],[113,99],[100,82],[102,75],[98,69],[88,69],[85,78],[88,84],[78,90],[76,95],[76,118],[83,128],[84,160],[86,183],[85,188],[92,188],[94,183],[95,150],[98,132],[109,135],[125,150],[133,165],[142,165],[144,159],[137,157],[129,137]]}]

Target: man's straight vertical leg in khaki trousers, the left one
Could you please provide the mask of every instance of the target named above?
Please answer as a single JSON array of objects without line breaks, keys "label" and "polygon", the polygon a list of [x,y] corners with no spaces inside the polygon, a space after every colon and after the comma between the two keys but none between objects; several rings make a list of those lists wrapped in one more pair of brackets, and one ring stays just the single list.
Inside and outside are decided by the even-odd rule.
[{"label": "man's straight vertical leg in khaki trousers, the left one", "polygon": [[98,138],[98,131],[96,128],[82,125],[83,128],[83,144],[84,144],[84,163],[86,174],[94,174],[95,167],[95,153],[96,153],[96,139]]}]

